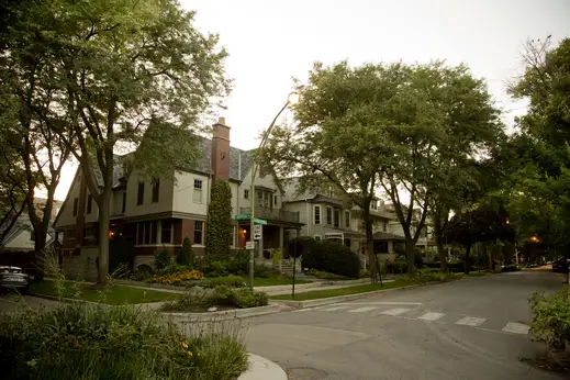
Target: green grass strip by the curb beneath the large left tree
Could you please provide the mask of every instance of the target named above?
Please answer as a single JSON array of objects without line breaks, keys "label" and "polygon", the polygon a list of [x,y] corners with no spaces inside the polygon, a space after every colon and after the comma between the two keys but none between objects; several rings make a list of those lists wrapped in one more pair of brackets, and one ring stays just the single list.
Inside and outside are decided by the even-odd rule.
[{"label": "green grass strip by the curb beneath the large left tree", "polygon": [[[54,281],[51,280],[32,282],[30,286],[30,292],[57,297],[57,290],[54,288]],[[66,289],[67,292],[65,297],[67,298],[91,302],[102,302],[112,305],[169,301],[179,297],[179,294],[176,293],[161,292],[158,290],[137,289],[126,286],[114,286],[113,288],[105,290],[107,294],[101,294],[102,291],[100,290],[89,289],[89,284],[87,283],[66,282]],[[78,291],[76,291],[76,289]]]}]

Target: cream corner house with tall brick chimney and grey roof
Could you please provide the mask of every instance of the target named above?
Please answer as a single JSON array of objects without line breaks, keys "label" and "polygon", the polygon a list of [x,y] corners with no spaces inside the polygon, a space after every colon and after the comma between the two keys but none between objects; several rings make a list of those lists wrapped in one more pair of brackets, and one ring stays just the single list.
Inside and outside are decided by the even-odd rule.
[{"label": "cream corner house with tall brick chimney and grey roof", "polygon": [[[192,171],[147,178],[123,165],[124,157],[116,156],[109,236],[122,236],[134,244],[135,268],[153,265],[154,256],[163,249],[177,255],[185,237],[192,242],[195,255],[205,253],[210,188],[214,178],[228,180],[233,216],[249,213],[249,197],[256,197],[255,217],[267,220],[258,256],[267,255],[268,249],[282,248],[286,230],[302,227],[298,213],[282,210],[282,194],[271,176],[256,178],[255,194],[249,193],[252,152],[231,147],[230,127],[223,118],[213,131],[212,139],[204,138],[200,143],[202,157]],[[249,241],[249,221],[233,223],[232,248],[243,248]],[[82,276],[93,277],[97,272],[98,208],[80,169],[55,227],[64,236],[64,269],[81,266],[85,268]]]}]

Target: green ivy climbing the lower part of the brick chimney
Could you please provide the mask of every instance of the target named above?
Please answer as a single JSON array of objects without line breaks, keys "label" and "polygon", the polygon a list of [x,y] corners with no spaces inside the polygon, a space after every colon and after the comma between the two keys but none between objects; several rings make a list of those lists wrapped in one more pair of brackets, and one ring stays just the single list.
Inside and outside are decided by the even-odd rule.
[{"label": "green ivy climbing the lower part of the brick chimney", "polygon": [[[253,197],[253,195],[252,195]],[[215,179],[208,208],[205,247],[210,257],[228,257],[232,245],[232,189],[227,181]]]}]

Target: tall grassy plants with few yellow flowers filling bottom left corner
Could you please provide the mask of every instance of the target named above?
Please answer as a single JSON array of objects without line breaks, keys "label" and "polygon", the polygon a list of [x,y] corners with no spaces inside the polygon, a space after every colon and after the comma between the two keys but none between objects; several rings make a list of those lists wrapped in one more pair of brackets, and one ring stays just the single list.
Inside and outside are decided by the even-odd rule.
[{"label": "tall grassy plants with few yellow flowers filling bottom left corner", "polygon": [[235,332],[182,336],[133,306],[64,304],[0,321],[0,365],[10,379],[235,379],[247,353]]}]

